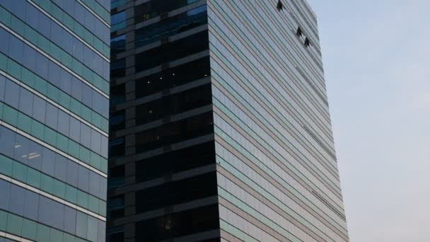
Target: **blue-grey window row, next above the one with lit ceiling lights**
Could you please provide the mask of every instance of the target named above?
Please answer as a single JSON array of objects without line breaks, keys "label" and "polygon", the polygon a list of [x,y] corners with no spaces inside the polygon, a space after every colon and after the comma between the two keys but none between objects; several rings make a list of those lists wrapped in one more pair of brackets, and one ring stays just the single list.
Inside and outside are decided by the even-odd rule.
[{"label": "blue-grey window row, next above the one with lit ceiling lights", "polygon": [[27,89],[18,86],[13,81],[8,79],[4,81],[0,78],[0,101],[47,125],[54,131],[64,134],[75,142],[83,144],[95,153],[107,157],[108,154],[101,152],[102,147],[108,145],[108,137],[47,103],[42,98],[35,96]]}]

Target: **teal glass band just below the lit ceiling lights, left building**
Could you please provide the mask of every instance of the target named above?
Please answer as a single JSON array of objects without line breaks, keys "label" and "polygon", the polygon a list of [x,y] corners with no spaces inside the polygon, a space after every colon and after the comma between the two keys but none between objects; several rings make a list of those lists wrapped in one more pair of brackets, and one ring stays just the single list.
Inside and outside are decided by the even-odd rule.
[{"label": "teal glass band just below the lit ceiling lights, left building", "polygon": [[[16,146],[19,145],[16,144]],[[30,154],[25,154],[23,156],[30,156]],[[34,155],[31,155],[30,157],[33,156]],[[97,197],[92,195],[88,195],[88,193],[83,192],[82,190],[78,190],[71,185],[63,183],[61,180],[52,178],[50,175],[46,175],[40,171],[25,166],[18,161],[13,161],[6,156],[0,155],[0,161],[1,174],[105,217],[105,201],[99,200]],[[88,180],[81,178],[80,183],[85,181],[88,182]],[[98,180],[93,179],[93,182],[98,182]],[[97,183],[95,185],[97,185]],[[98,190],[96,192],[98,192]]]}]

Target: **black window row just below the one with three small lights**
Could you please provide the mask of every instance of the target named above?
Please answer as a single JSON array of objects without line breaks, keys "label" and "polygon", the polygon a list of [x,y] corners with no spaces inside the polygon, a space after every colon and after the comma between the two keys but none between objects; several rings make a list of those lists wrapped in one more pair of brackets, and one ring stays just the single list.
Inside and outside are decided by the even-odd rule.
[{"label": "black window row just below the one with three small lights", "polygon": [[211,101],[210,83],[178,94],[164,96],[158,100],[136,106],[136,125],[152,122],[166,115],[175,115],[209,105]]}]

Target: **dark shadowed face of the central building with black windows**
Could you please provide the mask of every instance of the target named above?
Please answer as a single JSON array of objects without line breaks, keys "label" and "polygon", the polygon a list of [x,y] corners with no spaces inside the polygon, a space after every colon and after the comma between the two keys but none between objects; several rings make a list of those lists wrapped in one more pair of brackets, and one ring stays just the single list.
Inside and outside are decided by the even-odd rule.
[{"label": "dark shadowed face of the central building with black windows", "polygon": [[206,1],[112,3],[108,241],[219,241]]}]

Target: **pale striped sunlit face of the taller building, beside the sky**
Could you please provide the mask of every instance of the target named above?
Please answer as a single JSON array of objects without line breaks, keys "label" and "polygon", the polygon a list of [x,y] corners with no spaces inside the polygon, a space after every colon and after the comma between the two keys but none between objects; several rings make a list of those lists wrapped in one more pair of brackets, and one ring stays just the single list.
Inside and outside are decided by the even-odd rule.
[{"label": "pale striped sunlit face of the taller building, beside the sky", "polygon": [[208,16],[221,230],[348,241],[314,13],[214,0]]}]

